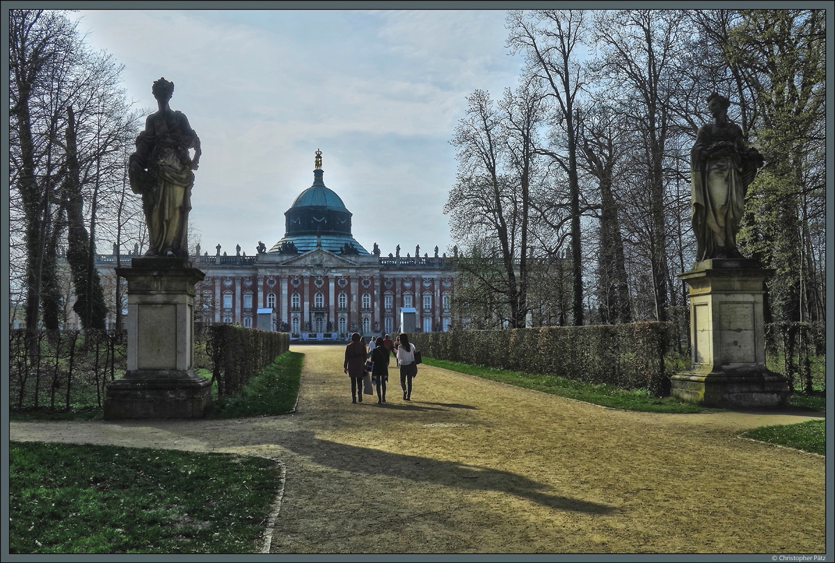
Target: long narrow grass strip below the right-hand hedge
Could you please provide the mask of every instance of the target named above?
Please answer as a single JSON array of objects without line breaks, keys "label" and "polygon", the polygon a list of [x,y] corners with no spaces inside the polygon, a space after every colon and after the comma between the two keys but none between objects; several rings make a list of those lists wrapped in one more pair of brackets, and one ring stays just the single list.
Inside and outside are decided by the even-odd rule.
[{"label": "long narrow grass strip below the right-hand hedge", "polygon": [[625,390],[615,385],[595,385],[567,380],[554,375],[528,374],[522,371],[486,368],[481,365],[462,364],[446,359],[423,358],[423,363],[438,368],[458,371],[462,374],[477,375],[485,380],[498,381],[525,389],[543,391],[569,399],[582,400],[594,405],[613,409],[639,410],[659,413],[701,413],[716,412],[717,409],[702,407],[672,397],[655,397],[647,390]]}]

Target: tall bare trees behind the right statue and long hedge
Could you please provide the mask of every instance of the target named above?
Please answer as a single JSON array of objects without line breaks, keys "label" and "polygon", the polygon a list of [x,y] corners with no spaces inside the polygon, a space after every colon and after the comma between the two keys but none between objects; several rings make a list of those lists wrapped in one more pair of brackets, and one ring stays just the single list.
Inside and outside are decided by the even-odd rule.
[{"label": "tall bare trees behind the right statue and long hedge", "polygon": [[[451,141],[459,320],[686,327],[676,273],[695,261],[689,153],[719,92],[766,159],[740,248],[777,269],[773,320],[822,321],[823,11],[534,10],[509,13],[507,28],[526,60],[519,85],[501,103],[473,93]],[[530,98],[524,176],[507,108]]]}]

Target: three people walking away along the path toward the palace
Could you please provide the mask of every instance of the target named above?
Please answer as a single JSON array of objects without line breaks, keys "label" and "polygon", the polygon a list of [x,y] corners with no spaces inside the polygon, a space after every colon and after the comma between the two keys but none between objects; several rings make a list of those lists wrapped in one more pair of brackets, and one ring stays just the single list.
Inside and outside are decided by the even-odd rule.
[{"label": "three people walking away along the path toward the palace", "polygon": [[388,334],[372,339],[366,347],[359,333],[351,335],[351,344],[345,348],[344,371],[351,380],[351,402],[362,403],[362,380],[371,364],[371,377],[377,385],[377,403],[386,402],[386,384],[388,366],[392,355],[397,359],[400,369],[400,386],[403,400],[412,400],[412,378],[417,374],[415,363],[415,345],[409,342],[408,334],[400,334],[392,341]]}]

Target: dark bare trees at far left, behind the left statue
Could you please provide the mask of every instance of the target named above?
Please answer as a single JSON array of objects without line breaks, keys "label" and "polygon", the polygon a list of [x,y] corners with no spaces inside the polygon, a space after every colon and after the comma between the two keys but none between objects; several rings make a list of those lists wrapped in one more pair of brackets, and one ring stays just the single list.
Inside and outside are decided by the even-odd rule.
[{"label": "dark bare trees at far left, behind the left statue", "polygon": [[97,229],[139,230],[123,182],[139,112],[121,71],[66,13],[9,13],[11,281],[30,329],[62,328],[70,295],[83,327],[103,329]]}]

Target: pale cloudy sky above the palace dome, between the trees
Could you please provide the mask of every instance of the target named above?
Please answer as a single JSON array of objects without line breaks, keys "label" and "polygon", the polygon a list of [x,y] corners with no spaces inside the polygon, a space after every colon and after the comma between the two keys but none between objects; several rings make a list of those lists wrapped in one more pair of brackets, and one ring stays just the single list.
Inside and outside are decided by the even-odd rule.
[{"label": "pale cloudy sky above the palace dome, between the trees", "polygon": [[[124,64],[138,108],[154,80],[203,151],[190,225],[201,249],[255,254],[285,231],[313,181],[352,212],[354,238],[383,255],[448,252],[443,214],[455,181],[448,143],[477,88],[514,88],[524,64],[505,47],[506,13],[360,10],[81,10],[94,49]],[[109,244],[104,244],[109,248]]]}]

